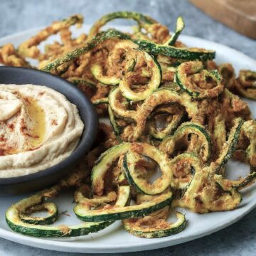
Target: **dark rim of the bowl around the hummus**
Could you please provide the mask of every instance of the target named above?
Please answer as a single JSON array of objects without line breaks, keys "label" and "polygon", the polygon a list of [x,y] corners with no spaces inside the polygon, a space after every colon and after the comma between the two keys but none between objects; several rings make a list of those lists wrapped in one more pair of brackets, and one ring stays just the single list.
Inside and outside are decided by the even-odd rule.
[{"label": "dark rim of the bowl around the hummus", "polygon": [[[68,82],[68,80],[60,78],[58,75],[53,75],[51,73],[47,73],[42,70],[36,70],[33,68],[21,68],[21,67],[11,67],[11,66],[0,66],[0,71],[1,70],[6,70],[8,72],[10,71],[21,72],[21,73],[28,72],[33,75],[37,75],[37,74],[47,75],[47,76],[50,76],[53,80],[59,80],[60,82],[63,83],[65,87],[70,87],[71,90],[73,90],[74,93],[78,97],[80,97],[80,99],[82,100],[82,105],[84,105],[83,107],[85,107],[86,109],[86,117],[85,117],[86,120],[83,121],[83,123],[85,124],[85,128],[80,137],[80,141],[78,142],[78,145],[75,147],[74,151],[70,154],[70,156],[63,159],[58,164],[50,166],[49,168],[43,169],[41,171],[37,171],[36,173],[33,173],[33,174],[26,174],[23,176],[14,176],[14,177],[8,177],[8,178],[0,178],[0,186],[15,185],[18,183],[33,181],[38,178],[43,178],[45,176],[50,176],[51,174],[58,173],[62,169],[67,169],[69,166],[73,166],[75,162],[79,161],[82,158],[82,156],[84,156],[85,153],[89,151],[90,146],[92,146],[93,142],[95,141],[95,137],[97,135],[98,117],[97,117],[97,112],[95,110],[95,107],[94,105],[92,105],[92,102],[90,101],[90,99],[77,86],[73,85],[71,82]],[[23,83],[23,84],[26,84],[26,83]],[[44,85],[44,86],[49,87],[48,85]],[[68,99],[67,95],[65,95],[63,92],[60,92],[60,93],[63,94]],[[72,101],[70,102],[75,105],[74,102]]]}]

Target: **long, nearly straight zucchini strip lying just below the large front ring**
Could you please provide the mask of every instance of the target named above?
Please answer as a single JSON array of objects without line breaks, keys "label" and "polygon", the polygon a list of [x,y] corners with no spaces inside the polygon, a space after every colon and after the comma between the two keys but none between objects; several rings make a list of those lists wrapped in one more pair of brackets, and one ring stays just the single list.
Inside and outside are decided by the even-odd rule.
[{"label": "long, nearly straight zucchini strip lying just below the large front ring", "polygon": [[114,207],[107,210],[85,210],[85,208],[75,206],[74,211],[80,220],[91,222],[124,220],[127,218],[138,218],[146,216],[165,206],[170,206],[172,193],[161,194],[154,201],[142,203],[135,206]]}]

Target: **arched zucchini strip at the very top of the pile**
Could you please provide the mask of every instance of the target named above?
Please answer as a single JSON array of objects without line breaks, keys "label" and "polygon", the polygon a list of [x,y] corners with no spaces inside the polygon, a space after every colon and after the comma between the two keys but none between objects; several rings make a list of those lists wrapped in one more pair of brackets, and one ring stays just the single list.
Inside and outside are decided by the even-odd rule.
[{"label": "arched zucchini strip at the very top of the pile", "polygon": [[153,23],[157,23],[153,18],[144,15],[139,14],[135,11],[116,11],[111,14],[107,14],[105,16],[102,16],[98,21],[96,21],[92,28],[90,29],[88,38],[92,38],[97,35],[97,33],[100,32],[100,28],[102,26],[105,26],[106,23],[114,20],[115,18],[125,18],[125,19],[133,19],[134,21],[137,21],[139,28],[148,28]]}]

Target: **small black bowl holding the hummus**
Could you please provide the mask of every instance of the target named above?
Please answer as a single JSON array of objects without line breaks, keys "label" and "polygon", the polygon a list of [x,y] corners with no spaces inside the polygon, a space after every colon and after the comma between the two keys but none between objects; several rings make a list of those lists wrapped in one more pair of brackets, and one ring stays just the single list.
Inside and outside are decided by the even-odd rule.
[{"label": "small black bowl holding the hummus", "polygon": [[0,178],[0,195],[38,191],[56,183],[72,171],[79,159],[90,150],[97,135],[98,119],[95,107],[78,87],[67,80],[32,68],[0,67],[0,84],[46,85],[65,95],[70,102],[78,107],[85,129],[73,153],[55,166],[35,174]]}]

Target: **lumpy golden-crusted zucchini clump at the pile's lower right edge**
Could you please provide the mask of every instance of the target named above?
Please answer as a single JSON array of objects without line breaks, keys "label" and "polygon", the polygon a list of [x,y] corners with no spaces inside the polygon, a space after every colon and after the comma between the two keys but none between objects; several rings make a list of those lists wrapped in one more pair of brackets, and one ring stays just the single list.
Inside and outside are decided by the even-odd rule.
[{"label": "lumpy golden-crusted zucchini clump at the pile's lower right edge", "polygon": [[[231,185],[225,188],[211,175],[211,168],[205,166],[200,156],[189,152],[179,154],[172,161],[174,170],[190,166],[191,174],[183,181],[182,178],[174,178],[176,189],[181,188],[181,198],[174,205],[189,208],[196,213],[208,213],[209,211],[231,210],[239,205],[241,195]],[[177,166],[175,166],[175,163]],[[181,167],[182,166],[182,167]],[[189,169],[188,169],[189,171]],[[184,175],[184,174],[180,174]]]}]

